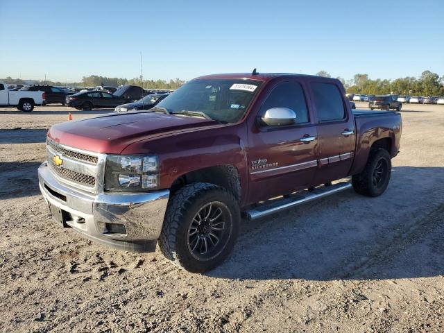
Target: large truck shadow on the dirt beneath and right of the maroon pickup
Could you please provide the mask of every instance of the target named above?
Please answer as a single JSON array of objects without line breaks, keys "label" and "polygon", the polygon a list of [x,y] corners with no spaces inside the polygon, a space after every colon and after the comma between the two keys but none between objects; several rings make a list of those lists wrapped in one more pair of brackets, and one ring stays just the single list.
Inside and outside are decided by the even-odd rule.
[{"label": "large truck shadow on the dirt beneath and right of the maroon pickup", "polygon": [[214,278],[340,280],[444,274],[444,168],[395,167],[378,198],[350,189],[244,221]]}]

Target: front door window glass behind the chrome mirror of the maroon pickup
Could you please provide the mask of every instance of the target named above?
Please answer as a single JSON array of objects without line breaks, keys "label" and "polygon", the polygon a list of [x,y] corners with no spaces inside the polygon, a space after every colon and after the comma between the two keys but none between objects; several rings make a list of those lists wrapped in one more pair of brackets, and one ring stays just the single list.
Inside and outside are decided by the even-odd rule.
[{"label": "front door window glass behind the chrome mirror of the maroon pickup", "polygon": [[289,108],[296,113],[296,123],[309,122],[307,103],[300,83],[285,82],[274,87],[259,114],[265,114],[271,108]]}]

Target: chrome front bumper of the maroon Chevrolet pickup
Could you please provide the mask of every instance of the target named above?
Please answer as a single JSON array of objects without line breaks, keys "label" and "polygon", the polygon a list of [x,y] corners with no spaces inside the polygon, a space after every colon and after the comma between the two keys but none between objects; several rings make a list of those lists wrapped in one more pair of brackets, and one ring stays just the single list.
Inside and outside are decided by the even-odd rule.
[{"label": "chrome front bumper of the maroon Chevrolet pickup", "polygon": [[[151,252],[160,237],[169,190],[123,194],[90,194],[62,185],[44,162],[39,186],[47,203],[67,212],[66,225],[101,244],[135,252]],[[116,230],[112,225],[119,225]],[[124,229],[121,226],[124,226]]]}]

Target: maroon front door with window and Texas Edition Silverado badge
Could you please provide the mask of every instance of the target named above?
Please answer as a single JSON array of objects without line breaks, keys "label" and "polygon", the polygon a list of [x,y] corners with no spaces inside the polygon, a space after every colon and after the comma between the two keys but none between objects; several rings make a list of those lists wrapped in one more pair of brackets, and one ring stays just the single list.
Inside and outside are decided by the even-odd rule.
[{"label": "maroon front door with window and Texas Edition Silverado badge", "polygon": [[296,78],[271,87],[257,116],[261,117],[271,108],[293,110],[296,123],[265,126],[254,119],[250,121],[249,203],[309,187],[318,165],[316,125],[310,117],[304,89]]}]

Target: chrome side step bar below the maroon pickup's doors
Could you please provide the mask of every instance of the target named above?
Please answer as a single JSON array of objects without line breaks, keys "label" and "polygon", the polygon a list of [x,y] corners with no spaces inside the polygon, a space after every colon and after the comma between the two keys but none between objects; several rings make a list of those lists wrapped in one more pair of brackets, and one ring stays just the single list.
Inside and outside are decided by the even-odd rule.
[{"label": "chrome side step bar below the maroon pickup's doors", "polygon": [[261,217],[280,212],[281,210],[287,210],[302,203],[308,203],[309,201],[350,189],[350,187],[352,187],[350,182],[339,182],[331,186],[316,187],[313,191],[300,191],[296,194],[291,194],[288,198],[268,200],[266,203],[259,204],[244,212],[244,217],[248,220],[260,219]]}]

